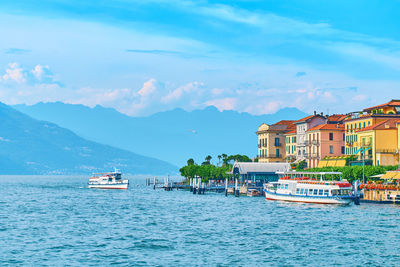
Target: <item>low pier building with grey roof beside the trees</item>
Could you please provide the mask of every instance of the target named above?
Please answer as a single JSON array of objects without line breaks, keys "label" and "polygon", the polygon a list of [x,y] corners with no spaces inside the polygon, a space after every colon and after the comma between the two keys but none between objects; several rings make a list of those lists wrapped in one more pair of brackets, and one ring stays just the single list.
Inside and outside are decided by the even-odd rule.
[{"label": "low pier building with grey roof beside the trees", "polygon": [[229,173],[239,177],[240,182],[252,181],[256,183],[278,181],[277,172],[288,172],[290,163],[260,163],[260,162],[235,162]]}]

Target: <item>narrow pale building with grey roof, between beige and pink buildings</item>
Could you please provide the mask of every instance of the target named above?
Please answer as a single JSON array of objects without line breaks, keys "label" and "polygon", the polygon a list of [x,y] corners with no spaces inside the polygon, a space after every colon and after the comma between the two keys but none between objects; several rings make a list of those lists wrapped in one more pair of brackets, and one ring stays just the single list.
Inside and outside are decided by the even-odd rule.
[{"label": "narrow pale building with grey roof, between beige and pink buildings", "polygon": [[307,140],[307,130],[313,128],[320,124],[325,124],[327,121],[326,117],[324,117],[323,113],[317,114],[314,111],[314,115],[307,116],[300,120],[294,122],[296,125],[296,162],[307,160],[308,152],[308,140]]}]

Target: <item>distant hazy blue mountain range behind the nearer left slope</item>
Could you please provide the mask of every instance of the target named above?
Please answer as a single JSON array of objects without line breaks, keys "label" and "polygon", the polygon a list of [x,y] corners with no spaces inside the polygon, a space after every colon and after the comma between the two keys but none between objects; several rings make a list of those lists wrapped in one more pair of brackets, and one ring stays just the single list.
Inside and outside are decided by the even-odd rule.
[{"label": "distant hazy blue mountain range behind the nearer left slope", "polygon": [[261,123],[307,115],[296,108],[254,116],[208,107],[192,112],[174,109],[148,117],[129,117],[111,108],[61,102],[14,107],[34,118],[71,129],[85,138],[177,165],[184,164],[190,157],[199,162],[207,155],[213,156],[215,162],[221,153],[254,157],[257,154],[255,132]]}]

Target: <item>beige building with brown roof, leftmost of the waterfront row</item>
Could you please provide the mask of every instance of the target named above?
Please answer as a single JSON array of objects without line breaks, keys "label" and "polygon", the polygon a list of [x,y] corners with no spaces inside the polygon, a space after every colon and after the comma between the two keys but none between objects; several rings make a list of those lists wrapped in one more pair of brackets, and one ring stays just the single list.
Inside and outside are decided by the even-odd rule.
[{"label": "beige building with brown roof, leftmost of the waterfront row", "polygon": [[285,162],[286,138],[285,134],[293,131],[293,121],[282,120],[275,124],[261,124],[258,128],[258,161]]}]

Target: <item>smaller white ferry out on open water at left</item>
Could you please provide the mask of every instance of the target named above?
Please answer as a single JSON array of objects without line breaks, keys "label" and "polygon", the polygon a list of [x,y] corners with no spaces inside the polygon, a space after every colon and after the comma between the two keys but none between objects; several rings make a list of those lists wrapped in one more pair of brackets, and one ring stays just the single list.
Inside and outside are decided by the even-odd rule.
[{"label": "smaller white ferry out on open water at left", "polygon": [[89,178],[89,188],[128,189],[129,180],[122,179],[122,174],[115,169],[113,172],[95,173]]}]

